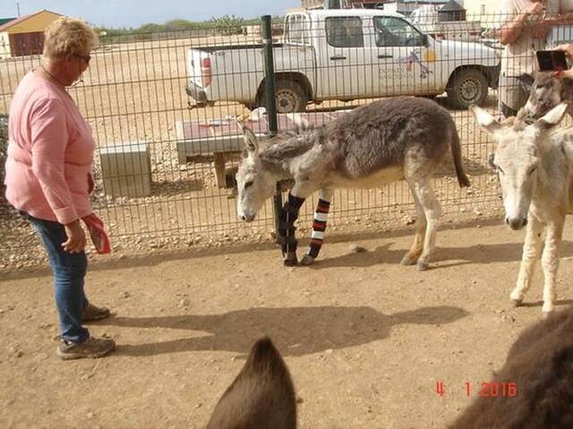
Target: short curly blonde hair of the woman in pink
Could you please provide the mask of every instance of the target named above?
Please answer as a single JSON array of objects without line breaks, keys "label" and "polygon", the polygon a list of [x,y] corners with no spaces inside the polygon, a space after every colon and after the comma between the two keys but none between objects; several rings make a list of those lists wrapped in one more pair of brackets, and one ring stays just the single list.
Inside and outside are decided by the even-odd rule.
[{"label": "short curly blonde hair of the woman in pink", "polygon": [[98,35],[85,22],[62,16],[44,31],[44,56],[60,59],[68,55],[89,55],[98,46]]}]

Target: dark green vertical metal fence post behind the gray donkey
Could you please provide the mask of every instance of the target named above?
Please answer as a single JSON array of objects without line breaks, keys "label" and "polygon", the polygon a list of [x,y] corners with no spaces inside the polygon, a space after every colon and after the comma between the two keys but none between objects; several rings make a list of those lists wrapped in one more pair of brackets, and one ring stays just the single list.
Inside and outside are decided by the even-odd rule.
[{"label": "dark green vertical metal fence post behind the gray donkey", "polygon": [[[272,54],[272,17],[261,16],[262,52],[265,63],[265,94],[264,100],[269,119],[269,137],[274,137],[278,132],[277,99],[275,98],[275,65]],[[278,214],[283,208],[283,197],[280,182],[277,183],[277,191],[273,198],[275,214],[275,234],[278,240]]]}]

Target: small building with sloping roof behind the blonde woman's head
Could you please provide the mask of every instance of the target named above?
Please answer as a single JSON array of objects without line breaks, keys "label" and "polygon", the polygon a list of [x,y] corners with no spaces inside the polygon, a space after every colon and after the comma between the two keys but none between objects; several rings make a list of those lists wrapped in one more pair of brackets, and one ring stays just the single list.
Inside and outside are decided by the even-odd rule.
[{"label": "small building with sloping roof behind the blonde woman's head", "polygon": [[30,13],[0,25],[0,59],[39,55],[44,49],[44,30],[62,16],[47,10]]}]

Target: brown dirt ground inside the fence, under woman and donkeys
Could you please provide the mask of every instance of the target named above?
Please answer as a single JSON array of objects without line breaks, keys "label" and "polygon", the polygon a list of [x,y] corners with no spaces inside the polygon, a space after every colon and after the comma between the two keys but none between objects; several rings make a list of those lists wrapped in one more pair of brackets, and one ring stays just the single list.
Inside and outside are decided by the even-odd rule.
[{"label": "brown dirt ground inside the fence, under woman and donkeys", "polygon": [[[424,273],[398,265],[411,229],[331,237],[312,267],[283,267],[272,244],[98,262],[87,290],[115,315],[90,329],[118,347],[69,362],[56,357],[49,273],[4,271],[0,426],[203,427],[269,334],[293,375],[300,427],[445,427],[541,317],[539,273],[526,307],[509,306],[523,237],[500,219],[445,223]],[[573,299],[570,223],[564,239],[561,308]]]}]

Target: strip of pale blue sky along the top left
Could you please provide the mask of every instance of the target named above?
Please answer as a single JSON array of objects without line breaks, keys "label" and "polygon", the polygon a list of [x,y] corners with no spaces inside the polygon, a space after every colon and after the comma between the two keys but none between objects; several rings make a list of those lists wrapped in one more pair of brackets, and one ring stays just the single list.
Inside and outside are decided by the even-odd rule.
[{"label": "strip of pale blue sky along the top left", "polygon": [[175,18],[205,21],[225,14],[244,18],[279,15],[301,4],[300,0],[0,0],[0,18],[17,16],[16,3],[21,15],[47,9],[115,28]]}]

